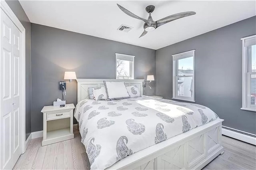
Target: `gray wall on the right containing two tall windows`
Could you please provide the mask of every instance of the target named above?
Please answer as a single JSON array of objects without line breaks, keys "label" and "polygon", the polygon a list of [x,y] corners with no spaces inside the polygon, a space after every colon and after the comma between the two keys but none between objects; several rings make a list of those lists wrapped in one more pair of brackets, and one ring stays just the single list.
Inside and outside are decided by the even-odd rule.
[{"label": "gray wall on the right containing two tall windows", "polygon": [[196,49],[196,103],[216,112],[223,125],[256,134],[256,113],[242,107],[242,41],[256,34],[256,17],[156,50],[156,95],[172,97],[171,55]]}]

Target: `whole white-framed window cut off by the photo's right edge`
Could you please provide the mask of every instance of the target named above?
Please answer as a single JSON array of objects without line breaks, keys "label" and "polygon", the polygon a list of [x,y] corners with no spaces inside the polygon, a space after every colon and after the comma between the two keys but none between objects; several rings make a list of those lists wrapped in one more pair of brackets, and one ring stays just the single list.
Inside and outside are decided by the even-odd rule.
[{"label": "whole white-framed window cut off by the photo's right edge", "polygon": [[256,111],[256,35],[242,38],[242,110]]}]

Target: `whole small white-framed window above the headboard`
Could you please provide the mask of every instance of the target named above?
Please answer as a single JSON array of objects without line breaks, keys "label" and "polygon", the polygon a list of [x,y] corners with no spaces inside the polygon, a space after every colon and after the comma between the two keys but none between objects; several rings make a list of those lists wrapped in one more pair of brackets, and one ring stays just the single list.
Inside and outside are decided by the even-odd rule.
[{"label": "whole small white-framed window above the headboard", "polygon": [[134,57],[116,53],[116,79],[134,79]]}]

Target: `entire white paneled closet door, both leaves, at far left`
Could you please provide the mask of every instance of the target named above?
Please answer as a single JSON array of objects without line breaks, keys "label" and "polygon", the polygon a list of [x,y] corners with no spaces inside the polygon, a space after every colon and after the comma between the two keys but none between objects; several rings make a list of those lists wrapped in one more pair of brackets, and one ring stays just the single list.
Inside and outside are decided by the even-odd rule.
[{"label": "entire white paneled closet door, both leaves, at far left", "polygon": [[0,111],[1,165],[12,169],[20,146],[20,36],[21,32],[1,9]]}]

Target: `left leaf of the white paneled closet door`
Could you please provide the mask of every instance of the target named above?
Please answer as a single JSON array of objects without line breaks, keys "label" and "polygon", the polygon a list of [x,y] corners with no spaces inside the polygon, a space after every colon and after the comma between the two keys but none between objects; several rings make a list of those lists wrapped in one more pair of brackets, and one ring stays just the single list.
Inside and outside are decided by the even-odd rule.
[{"label": "left leaf of the white paneled closet door", "polygon": [[0,57],[0,100],[1,100],[1,164],[3,169],[12,168],[12,28],[13,23],[1,10],[1,57]]}]

